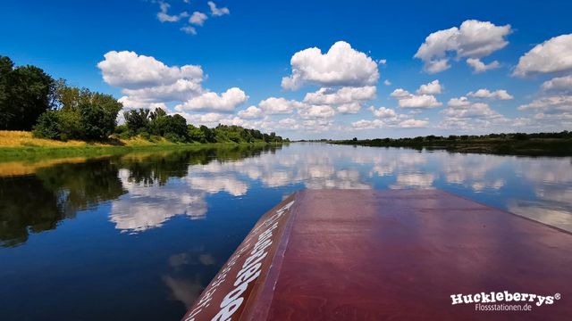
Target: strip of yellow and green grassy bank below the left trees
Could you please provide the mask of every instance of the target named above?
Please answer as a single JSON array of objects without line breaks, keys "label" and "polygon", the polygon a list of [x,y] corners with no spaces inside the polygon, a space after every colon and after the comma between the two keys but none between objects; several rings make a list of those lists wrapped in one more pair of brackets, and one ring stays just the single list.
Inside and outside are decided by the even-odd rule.
[{"label": "strip of yellow and green grassy bank below the left trees", "polygon": [[[153,152],[177,149],[214,148],[231,145],[265,145],[270,143],[172,143],[164,137],[148,141],[139,136],[129,139],[115,139],[108,142],[83,142],[70,140],[61,142],[36,138],[25,131],[0,131],[0,162],[37,161],[68,157],[100,157],[128,152]],[[273,143],[272,143],[273,144]]]}]

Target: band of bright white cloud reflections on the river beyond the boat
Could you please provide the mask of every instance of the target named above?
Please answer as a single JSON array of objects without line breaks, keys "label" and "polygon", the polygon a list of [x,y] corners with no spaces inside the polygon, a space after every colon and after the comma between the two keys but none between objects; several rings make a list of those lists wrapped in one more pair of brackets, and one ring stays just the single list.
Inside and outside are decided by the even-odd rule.
[{"label": "band of bright white cloud reflections on the river beyond the boat", "polygon": [[128,170],[122,169],[120,178],[129,194],[114,202],[111,220],[130,232],[161,226],[175,215],[204,218],[207,195],[240,199],[268,189],[291,193],[300,188],[440,188],[572,228],[569,158],[291,144],[242,160],[190,165],[187,177],[166,185],[136,185],[127,177]]}]

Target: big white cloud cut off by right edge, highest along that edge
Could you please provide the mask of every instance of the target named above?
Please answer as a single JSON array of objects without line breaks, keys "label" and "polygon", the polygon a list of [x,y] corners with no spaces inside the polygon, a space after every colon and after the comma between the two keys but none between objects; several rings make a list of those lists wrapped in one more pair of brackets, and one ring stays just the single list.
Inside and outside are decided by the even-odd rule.
[{"label": "big white cloud cut off by right edge, highest along that edge", "polygon": [[553,37],[534,46],[520,57],[513,75],[526,77],[538,73],[572,70],[572,34]]}]

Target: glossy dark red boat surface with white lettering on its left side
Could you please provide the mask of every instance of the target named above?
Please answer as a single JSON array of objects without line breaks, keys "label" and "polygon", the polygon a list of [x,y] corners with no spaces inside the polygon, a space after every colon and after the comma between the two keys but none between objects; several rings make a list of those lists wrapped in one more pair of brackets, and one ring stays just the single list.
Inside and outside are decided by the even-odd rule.
[{"label": "glossy dark red boat surface with white lettering on its left side", "polygon": [[[481,308],[531,310],[452,304],[504,291],[526,300]],[[260,219],[183,317],[211,319],[572,320],[572,235],[437,190],[305,190]]]}]

